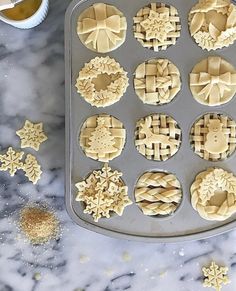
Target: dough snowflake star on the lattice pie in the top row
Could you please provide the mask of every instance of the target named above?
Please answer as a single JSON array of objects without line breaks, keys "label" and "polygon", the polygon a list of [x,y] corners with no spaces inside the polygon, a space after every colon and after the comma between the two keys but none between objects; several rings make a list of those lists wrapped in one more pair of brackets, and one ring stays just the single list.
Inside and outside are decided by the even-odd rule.
[{"label": "dough snowflake star on the lattice pie in the top row", "polygon": [[146,39],[157,39],[164,42],[170,31],[174,31],[175,27],[171,24],[169,14],[157,13],[150,10],[147,19],[142,21],[140,25],[146,30]]}]

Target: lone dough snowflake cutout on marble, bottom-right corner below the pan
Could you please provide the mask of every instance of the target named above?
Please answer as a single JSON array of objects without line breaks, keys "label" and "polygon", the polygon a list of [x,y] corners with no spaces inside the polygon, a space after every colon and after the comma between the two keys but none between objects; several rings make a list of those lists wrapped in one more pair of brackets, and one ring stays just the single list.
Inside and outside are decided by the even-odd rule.
[{"label": "lone dough snowflake cutout on marble, bottom-right corner below the pan", "polygon": [[209,268],[202,268],[203,274],[206,277],[204,280],[204,287],[212,287],[216,291],[222,289],[222,285],[229,284],[229,278],[226,276],[228,272],[227,267],[219,267],[215,262],[212,262]]}]

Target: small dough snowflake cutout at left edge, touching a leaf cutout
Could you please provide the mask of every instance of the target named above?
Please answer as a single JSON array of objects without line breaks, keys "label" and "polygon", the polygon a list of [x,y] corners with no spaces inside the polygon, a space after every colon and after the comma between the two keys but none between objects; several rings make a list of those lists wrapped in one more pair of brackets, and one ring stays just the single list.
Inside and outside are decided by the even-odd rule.
[{"label": "small dough snowflake cutout at left edge, touching a leaf cutout", "polygon": [[6,154],[0,155],[0,171],[9,171],[14,176],[17,170],[22,169],[21,162],[24,152],[17,152],[9,147]]}]

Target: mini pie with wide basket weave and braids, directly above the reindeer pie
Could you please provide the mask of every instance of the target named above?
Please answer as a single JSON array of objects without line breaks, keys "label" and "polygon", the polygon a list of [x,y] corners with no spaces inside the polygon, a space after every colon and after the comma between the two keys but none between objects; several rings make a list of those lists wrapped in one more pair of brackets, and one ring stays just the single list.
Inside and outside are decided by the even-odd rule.
[{"label": "mini pie with wide basket weave and braids, directly above the reindeer pie", "polygon": [[167,59],[152,59],[135,71],[134,89],[145,104],[169,103],[180,91],[178,68]]}]

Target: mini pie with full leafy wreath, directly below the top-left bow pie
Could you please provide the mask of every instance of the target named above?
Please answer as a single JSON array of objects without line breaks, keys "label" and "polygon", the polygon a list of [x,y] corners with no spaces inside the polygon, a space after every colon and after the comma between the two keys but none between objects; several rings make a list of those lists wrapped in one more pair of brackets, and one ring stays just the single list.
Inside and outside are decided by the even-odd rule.
[{"label": "mini pie with full leafy wreath, directly below the top-left bow pie", "polygon": [[128,85],[127,73],[119,63],[109,57],[96,57],[79,72],[75,86],[92,106],[106,107],[119,101]]}]

